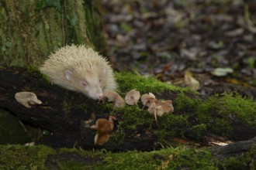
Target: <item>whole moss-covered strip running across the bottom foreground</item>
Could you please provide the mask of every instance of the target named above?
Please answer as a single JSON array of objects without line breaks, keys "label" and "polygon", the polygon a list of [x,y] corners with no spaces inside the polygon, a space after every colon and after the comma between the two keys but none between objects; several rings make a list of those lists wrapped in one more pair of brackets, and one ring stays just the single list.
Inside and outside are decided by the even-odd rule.
[{"label": "whole moss-covered strip running across the bottom foreground", "polygon": [[0,145],[0,169],[254,169],[256,145],[238,157],[213,157],[200,148],[163,148],[159,151],[85,151],[43,145]]}]

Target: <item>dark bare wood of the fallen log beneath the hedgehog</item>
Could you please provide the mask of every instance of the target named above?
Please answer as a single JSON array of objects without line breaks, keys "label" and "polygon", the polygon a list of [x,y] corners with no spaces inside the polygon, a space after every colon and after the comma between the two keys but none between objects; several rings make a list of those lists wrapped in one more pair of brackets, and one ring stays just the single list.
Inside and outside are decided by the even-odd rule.
[{"label": "dark bare wood of the fallen log beneath the hedgehog", "polygon": [[[122,83],[122,81],[120,82]],[[147,86],[147,84],[144,86]],[[19,104],[15,99],[15,94],[20,91],[35,93],[43,104],[35,105],[31,108],[22,106],[22,104]],[[0,107],[9,110],[12,114],[16,115],[23,124],[29,124],[35,128],[49,131],[49,134],[40,138],[37,143],[49,145],[54,148],[81,147],[85,149],[107,148],[116,151],[134,149],[150,151],[156,148],[161,148],[163,145],[163,142],[160,139],[162,134],[160,134],[159,131],[165,133],[165,145],[170,145],[171,138],[176,134],[179,136],[185,134],[193,140],[196,140],[199,136],[199,134],[196,134],[195,138],[192,136],[193,133],[198,132],[194,131],[193,127],[189,128],[188,125],[186,125],[188,124],[187,120],[185,120],[184,124],[178,122],[177,126],[172,124],[172,126],[174,126],[173,131],[178,131],[177,133],[175,132],[176,134],[168,134],[169,127],[166,126],[169,122],[165,124],[161,124],[160,122],[159,127],[157,127],[154,118],[147,116],[146,114],[137,113],[140,116],[140,119],[137,120],[139,121],[138,124],[132,122],[134,117],[130,117],[130,120],[127,121],[130,114],[121,113],[122,111],[126,112],[126,108],[123,110],[112,110],[106,103],[99,104],[97,101],[88,99],[82,94],[74,93],[52,85],[47,82],[47,79],[38,70],[34,69],[23,69],[19,67],[2,68],[2,70],[0,70],[0,93]],[[164,92],[157,93],[157,97],[161,97],[161,99],[165,100],[175,100],[176,97],[178,97],[178,93],[180,92],[177,90],[165,90]],[[199,95],[193,93],[185,93],[185,96],[191,99],[201,98]],[[130,110],[131,107],[127,108],[129,108],[127,110]],[[133,110],[140,111],[137,107],[133,107]],[[143,111],[147,112],[145,110]],[[193,110],[184,108],[182,110],[177,110],[170,116],[172,118],[175,118],[176,116],[184,118],[191,114],[189,111]],[[90,128],[93,123],[86,124],[92,117],[92,114],[95,114],[93,123],[99,118],[109,117],[109,114],[115,114],[117,117],[117,121],[114,122],[115,128],[112,137],[106,145],[94,145],[96,132]],[[161,119],[164,121],[166,118],[170,117],[160,117],[160,121]],[[201,128],[204,126],[197,126],[199,122],[196,119],[187,119],[195,125],[194,128],[200,128],[199,133],[201,133]],[[140,121],[144,122],[141,123]],[[240,134],[243,134],[243,139],[245,140],[256,136],[256,128],[254,126],[247,126],[244,124],[233,125],[237,125],[234,127],[234,130],[239,129]],[[206,134],[206,131],[203,130],[200,135],[203,136],[204,134]],[[237,136],[239,137],[239,134],[235,134],[236,131],[230,133],[230,137],[234,135],[230,140],[241,139],[237,138]],[[199,143],[201,145],[207,145],[207,143],[203,143],[202,141],[199,141]]]}]

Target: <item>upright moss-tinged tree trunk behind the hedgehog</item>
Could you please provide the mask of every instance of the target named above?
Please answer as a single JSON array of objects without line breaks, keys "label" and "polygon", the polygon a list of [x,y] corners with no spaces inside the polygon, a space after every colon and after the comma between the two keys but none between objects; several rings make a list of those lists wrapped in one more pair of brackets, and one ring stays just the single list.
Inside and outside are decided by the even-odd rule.
[{"label": "upright moss-tinged tree trunk behind the hedgehog", "polygon": [[[0,1],[0,63],[38,66],[66,44],[102,49],[104,43],[95,1]],[[100,39],[100,40],[99,40]]]}]

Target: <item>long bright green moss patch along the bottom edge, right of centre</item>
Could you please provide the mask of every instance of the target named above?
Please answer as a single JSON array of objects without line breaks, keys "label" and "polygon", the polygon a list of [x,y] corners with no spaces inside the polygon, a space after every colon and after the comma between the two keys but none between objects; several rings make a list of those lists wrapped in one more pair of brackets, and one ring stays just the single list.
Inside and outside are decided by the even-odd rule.
[{"label": "long bright green moss patch along the bottom edge, right of centre", "polygon": [[104,163],[96,165],[95,169],[217,169],[211,158],[208,151],[185,147],[150,152],[128,151],[107,153]]}]

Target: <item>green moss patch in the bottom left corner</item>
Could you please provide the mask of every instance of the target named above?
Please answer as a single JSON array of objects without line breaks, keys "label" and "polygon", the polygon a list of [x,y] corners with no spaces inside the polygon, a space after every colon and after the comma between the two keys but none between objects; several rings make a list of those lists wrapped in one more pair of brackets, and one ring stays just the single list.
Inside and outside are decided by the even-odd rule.
[{"label": "green moss patch in the bottom left corner", "polygon": [[46,146],[25,147],[21,145],[0,145],[0,169],[44,169],[47,155],[55,153]]}]

